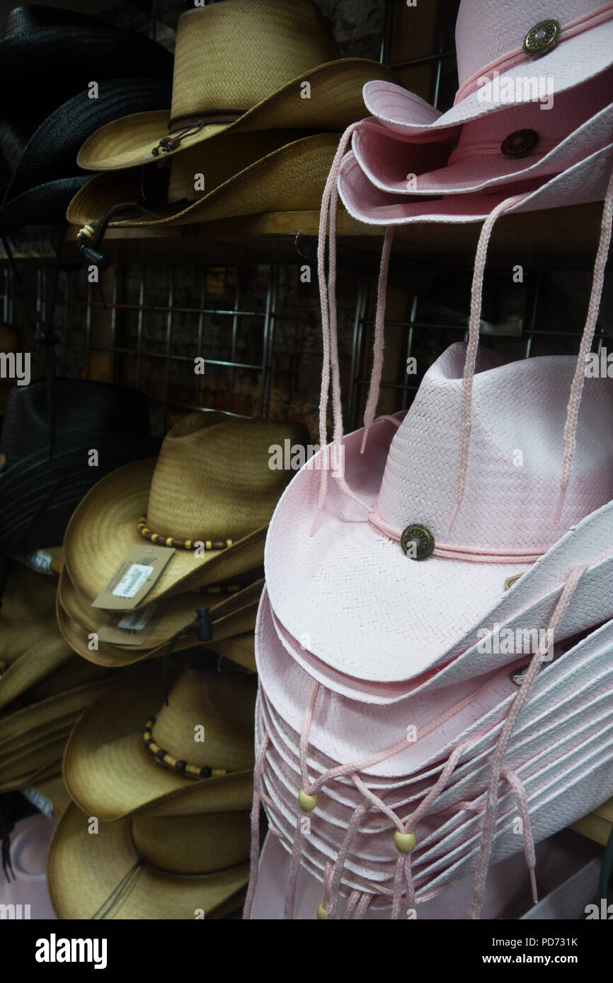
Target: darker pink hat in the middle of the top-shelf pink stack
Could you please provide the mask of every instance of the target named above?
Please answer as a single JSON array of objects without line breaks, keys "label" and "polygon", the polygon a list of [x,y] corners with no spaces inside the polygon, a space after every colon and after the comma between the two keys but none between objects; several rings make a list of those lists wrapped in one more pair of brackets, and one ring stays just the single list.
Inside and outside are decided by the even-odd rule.
[{"label": "darker pink hat in the middle of the top-shelf pink stack", "polygon": [[[464,124],[456,149],[399,138],[370,118],[354,131],[352,148],[368,179],[393,195],[491,191],[559,174],[608,145],[613,128],[611,92],[613,73],[608,70],[561,93],[550,111],[534,104],[513,106]],[[531,130],[537,143],[520,157],[505,155],[505,140],[523,130]],[[444,157],[443,163],[436,160],[437,154]]]}]

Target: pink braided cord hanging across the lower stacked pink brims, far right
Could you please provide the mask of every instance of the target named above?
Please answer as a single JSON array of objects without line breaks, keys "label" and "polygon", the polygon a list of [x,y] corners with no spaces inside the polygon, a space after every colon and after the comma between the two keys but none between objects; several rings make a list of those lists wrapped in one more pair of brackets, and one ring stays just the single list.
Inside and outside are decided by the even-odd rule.
[{"label": "pink braided cord hanging across the lower stacked pink brims, far right", "polygon": [[[573,596],[573,592],[579,583],[583,571],[586,569],[585,566],[576,567],[571,571],[564,589],[558,599],[558,603],[554,609],[554,612],[549,623],[549,628],[546,637],[548,639],[554,637],[554,634],[560,624],[564,612],[568,607],[568,604]],[[550,634],[551,633],[551,634]],[[483,830],[481,833],[481,849],[479,851],[479,861],[477,864],[477,871],[474,878],[474,890],[472,896],[472,905],[470,908],[470,918],[476,919],[480,917],[481,908],[483,906],[483,894],[485,891],[485,881],[487,879],[487,870],[489,865],[489,860],[492,852],[492,841],[494,838],[494,826],[496,824],[496,813],[497,813],[497,803],[498,803],[498,785],[500,782],[500,776],[502,772],[503,759],[505,752],[507,750],[507,745],[511,738],[511,734],[515,727],[515,724],[520,716],[521,708],[523,707],[536,673],[544,661],[546,656],[546,650],[541,651],[541,647],[532,656],[530,665],[523,677],[521,687],[516,694],[516,697],[511,705],[511,709],[507,716],[507,720],[503,724],[502,730],[498,736],[498,741],[496,743],[496,748],[494,750],[494,755],[492,758],[492,768],[490,772],[490,780],[487,789],[487,805],[485,808],[485,818],[483,820]]]}]

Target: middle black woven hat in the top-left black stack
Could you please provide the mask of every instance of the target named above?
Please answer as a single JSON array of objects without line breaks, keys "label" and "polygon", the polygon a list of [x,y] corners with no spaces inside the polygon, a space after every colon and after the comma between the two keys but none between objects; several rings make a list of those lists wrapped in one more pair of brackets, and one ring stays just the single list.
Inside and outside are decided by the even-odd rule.
[{"label": "middle black woven hat in the top-left black stack", "polygon": [[11,171],[0,207],[0,234],[22,225],[64,221],[68,203],[92,177],[76,162],[84,141],[98,127],[127,113],[163,109],[169,98],[166,80],[102,82],[96,98],[84,90],[55,109],[29,135],[21,154],[16,149],[18,131],[7,121],[0,125],[0,159]]}]

